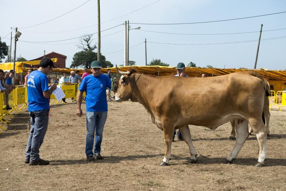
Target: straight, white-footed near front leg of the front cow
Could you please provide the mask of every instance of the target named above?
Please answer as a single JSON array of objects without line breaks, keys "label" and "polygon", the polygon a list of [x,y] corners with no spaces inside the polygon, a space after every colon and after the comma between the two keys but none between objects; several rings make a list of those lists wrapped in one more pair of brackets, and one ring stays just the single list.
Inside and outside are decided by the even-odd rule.
[{"label": "straight, white-footed near front leg of the front cow", "polygon": [[172,141],[173,141],[173,134],[174,134],[174,125],[163,125],[164,129],[164,141],[165,141],[165,155],[164,159],[161,162],[160,166],[166,166],[169,164],[169,160],[171,158],[171,146],[172,146]]}]

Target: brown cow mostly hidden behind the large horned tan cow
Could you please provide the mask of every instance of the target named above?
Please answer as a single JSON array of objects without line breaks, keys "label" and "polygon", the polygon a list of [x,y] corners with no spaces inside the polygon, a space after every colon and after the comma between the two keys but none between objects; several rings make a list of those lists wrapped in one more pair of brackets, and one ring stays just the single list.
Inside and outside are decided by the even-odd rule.
[{"label": "brown cow mostly hidden behind the large horned tan cow", "polygon": [[[271,86],[269,84],[269,81],[264,79],[265,83],[265,90],[268,92],[267,94],[270,94]],[[265,117],[265,122],[266,123],[266,128],[268,130],[267,137],[269,137],[269,120],[270,120],[270,112],[269,112],[269,100],[271,100],[268,96],[265,95],[264,98],[264,117]],[[264,120],[264,119],[262,119]],[[265,124],[264,123],[264,124]],[[249,128],[249,135],[253,132],[252,128]],[[229,139],[234,140],[235,139],[235,120],[231,121],[231,136]]]}]

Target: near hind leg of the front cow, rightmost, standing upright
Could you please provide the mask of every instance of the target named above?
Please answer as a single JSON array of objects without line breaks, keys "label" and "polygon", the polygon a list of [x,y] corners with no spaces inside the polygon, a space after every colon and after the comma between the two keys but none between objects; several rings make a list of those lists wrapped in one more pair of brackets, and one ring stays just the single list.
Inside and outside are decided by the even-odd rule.
[{"label": "near hind leg of the front cow, rightmost, standing upright", "polygon": [[266,140],[268,130],[261,118],[251,118],[249,119],[249,124],[251,125],[254,133],[256,134],[256,138],[259,144],[258,162],[255,166],[261,167],[264,166],[264,162],[266,160]]}]

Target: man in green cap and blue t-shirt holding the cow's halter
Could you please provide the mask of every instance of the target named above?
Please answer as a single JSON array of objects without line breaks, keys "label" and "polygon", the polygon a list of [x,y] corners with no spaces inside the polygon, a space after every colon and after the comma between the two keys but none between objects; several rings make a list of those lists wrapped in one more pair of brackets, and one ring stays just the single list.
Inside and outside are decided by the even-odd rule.
[{"label": "man in green cap and blue t-shirt holding the cow's halter", "polygon": [[[86,160],[102,160],[100,145],[103,128],[107,118],[106,87],[111,88],[108,76],[100,74],[101,64],[97,60],[90,64],[92,75],[86,76],[78,90],[76,115],[82,116],[82,94],[86,92]],[[94,139],[95,133],[95,139]],[[95,142],[95,145],[94,145]],[[94,145],[94,149],[93,149]]]}]

